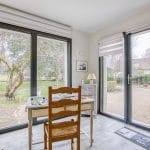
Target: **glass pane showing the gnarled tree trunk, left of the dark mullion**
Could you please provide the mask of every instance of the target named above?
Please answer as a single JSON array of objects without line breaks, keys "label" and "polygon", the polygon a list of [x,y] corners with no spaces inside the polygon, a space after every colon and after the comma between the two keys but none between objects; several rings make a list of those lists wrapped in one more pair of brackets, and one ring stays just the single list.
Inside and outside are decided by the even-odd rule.
[{"label": "glass pane showing the gnarled tree trunk, left of the dark mullion", "polygon": [[27,123],[30,42],[29,34],[0,29],[0,129]]}]

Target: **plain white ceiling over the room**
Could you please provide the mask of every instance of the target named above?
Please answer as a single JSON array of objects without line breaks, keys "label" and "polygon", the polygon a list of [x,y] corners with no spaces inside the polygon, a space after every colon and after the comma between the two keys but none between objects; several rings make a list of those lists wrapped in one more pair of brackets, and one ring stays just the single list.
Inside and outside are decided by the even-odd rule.
[{"label": "plain white ceiling over the room", "polygon": [[0,0],[0,3],[88,33],[150,8],[150,0]]}]

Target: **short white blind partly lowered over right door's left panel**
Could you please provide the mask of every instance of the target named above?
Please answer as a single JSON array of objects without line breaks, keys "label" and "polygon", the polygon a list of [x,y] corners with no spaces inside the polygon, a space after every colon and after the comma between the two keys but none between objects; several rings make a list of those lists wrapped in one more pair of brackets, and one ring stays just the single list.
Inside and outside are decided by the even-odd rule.
[{"label": "short white blind partly lowered over right door's left panel", "polygon": [[123,36],[113,36],[99,41],[99,56],[121,53],[124,50]]}]

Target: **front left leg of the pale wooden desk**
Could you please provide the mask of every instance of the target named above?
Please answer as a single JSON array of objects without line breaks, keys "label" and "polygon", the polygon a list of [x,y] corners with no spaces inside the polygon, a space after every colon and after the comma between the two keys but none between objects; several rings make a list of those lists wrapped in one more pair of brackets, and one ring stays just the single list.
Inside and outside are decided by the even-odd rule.
[{"label": "front left leg of the pale wooden desk", "polygon": [[29,150],[32,150],[32,110],[28,109]]}]

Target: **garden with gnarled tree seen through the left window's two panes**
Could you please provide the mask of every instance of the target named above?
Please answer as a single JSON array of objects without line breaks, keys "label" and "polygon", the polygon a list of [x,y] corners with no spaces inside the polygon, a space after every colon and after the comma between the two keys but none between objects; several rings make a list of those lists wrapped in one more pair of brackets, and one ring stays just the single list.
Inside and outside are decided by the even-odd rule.
[{"label": "garden with gnarled tree seen through the left window's two panes", "polygon": [[[37,95],[64,85],[66,42],[37,37]],[[0,29],[0,128],[27,122],[31,95],[30,34]]]}]

